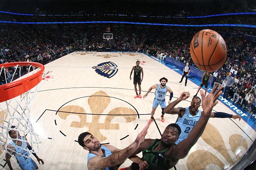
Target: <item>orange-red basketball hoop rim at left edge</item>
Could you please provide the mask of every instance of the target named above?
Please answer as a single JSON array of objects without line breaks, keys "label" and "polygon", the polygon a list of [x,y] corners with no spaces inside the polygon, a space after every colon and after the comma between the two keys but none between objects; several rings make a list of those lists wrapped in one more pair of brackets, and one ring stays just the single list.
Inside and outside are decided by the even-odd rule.
[{"label": "orange-red basketball hoop rim at left edge", "polygon": [[0,64],[0,70],[2,67],[15,67],[15,66],[30,66],[41,68],[36,73],[25,77],[23,79],[7,83],[5,85],[0,85],[0,103],[3,101],[10,100],[17,97],[35,87],[42,80],[42,75],[44,71],[44,65],[36,62],[13,62]]}]

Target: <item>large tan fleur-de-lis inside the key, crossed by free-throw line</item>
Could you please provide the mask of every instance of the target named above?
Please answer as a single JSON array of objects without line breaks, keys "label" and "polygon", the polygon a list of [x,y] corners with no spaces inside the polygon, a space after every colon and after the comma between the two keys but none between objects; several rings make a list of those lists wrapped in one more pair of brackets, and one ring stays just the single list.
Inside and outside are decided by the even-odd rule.
[{"label": "large tan fleur-de-lis inside the key, crossed by free-throw line", "polygon": [[[137,118],[137,112],[128,107],[109,108],[111,97],[104,91],[97,91],[88,98],[88,105],[90,111],[85,111],[84,107],[69,105],[59,109],[58,115],[60,118],[65,119],[69,115],[78,115],[80,121],[72,121],[70,127],[87,128],[88,132],[93,134],[100,142],[107,138],[100,133],[101,129],[119,130],[119,124],[111,123],[112,119],[121,116],[126,119],[126,123],[132,122]],[[108,113],[105,110],[110,110]],[[87,113],[92,115],[92,122],[87,122]],[[99,123],[101,116],[105,116],[104,123]]]}]

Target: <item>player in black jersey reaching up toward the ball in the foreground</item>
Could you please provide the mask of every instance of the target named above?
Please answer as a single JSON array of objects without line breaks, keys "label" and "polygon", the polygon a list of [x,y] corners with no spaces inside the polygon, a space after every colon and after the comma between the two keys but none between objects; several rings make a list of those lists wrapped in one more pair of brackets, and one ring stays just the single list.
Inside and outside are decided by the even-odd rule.
[{"label": "player in black jersey reaching up toward the ball in the foreground", "polygon": [[[165,128],[161,139],[145,139],[144,142],[140,144],[139,148],[136,149],[132,155],[137,155],[142,152],[143,160],[140,161],[140,164],[132,163],[128,169],[169,170],[174,167],[180,159],[185,158],[191,147],[197,143],[197,140],[203,134],[210,118],[212,108],[218,103],[216,100],[222,94],[221,90],[223,88],[223,86],[221,86],[215,92],[218,86],[219,85],[216,85],[206,97],[204,96],[203,90],[200,91],[204,112],[201,114],[197,124],[188,134],[187,139],[175,145],[175,142],[181,134],[181,128],[178,124],[169,124]],[[182,100],[186,100],[188,97],[190,97],[189,92],[181,93],[181,96],[170,104],[172,109],[176,104]]]}]

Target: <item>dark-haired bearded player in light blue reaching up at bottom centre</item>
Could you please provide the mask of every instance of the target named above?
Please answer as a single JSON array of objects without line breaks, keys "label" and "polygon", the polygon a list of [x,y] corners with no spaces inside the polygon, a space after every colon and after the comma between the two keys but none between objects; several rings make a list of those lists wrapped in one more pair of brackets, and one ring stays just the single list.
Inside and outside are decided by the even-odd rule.
[{"label": "dark-haired bearded player in light blue reaching up at bottom centre", "polygon": [[78,143],[83,149],[89,151],[87,157],[87,167],[89,170],[117,170],[119,166],[127,159],[140,164],[143,162],[138,156],[131,154],[144,142],[147,130],[151,121],[147,122],[144,129],[137,135],[136,140],[125,149],[117,149],[109,144],[101,145],[99,140],[89,132],[79,135]]}]

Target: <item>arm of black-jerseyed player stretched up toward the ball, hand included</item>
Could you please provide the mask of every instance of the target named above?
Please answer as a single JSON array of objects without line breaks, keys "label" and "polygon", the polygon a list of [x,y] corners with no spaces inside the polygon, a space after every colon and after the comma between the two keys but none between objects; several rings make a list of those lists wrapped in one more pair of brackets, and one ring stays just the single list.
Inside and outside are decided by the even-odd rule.
[{"label": "arm of black-jerseyed player stretched up toward the ball, hand included", "polygon": [[[191,147],[197,143],[197,140],[199,137],[203,134],[203,131],[206,127],[206,124],[210,118],[210,115],[212,113],[212,108],[218,103],[216,101],[218,97],[222,94],[222,88],[221,86],[218,91],[215,92],[217,87],[219,86],[219,83],[215,85],[215,87],[212,89],[212,91],[204,97],[203,90],[200,91],[201,97],[202,97],[202,107],[203,107],[203,113],[201,114],[201,117],[199,121],[197,122],[196,126],[191,130],[191,132],[188,134],[187,139],[181,141],[172,152],[172,158],[174,159],[182,159],[185,158],[191,149]],[[215,92],[215,93],[214,93]]]}]

